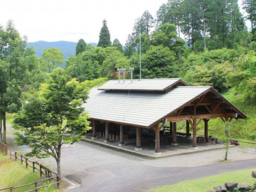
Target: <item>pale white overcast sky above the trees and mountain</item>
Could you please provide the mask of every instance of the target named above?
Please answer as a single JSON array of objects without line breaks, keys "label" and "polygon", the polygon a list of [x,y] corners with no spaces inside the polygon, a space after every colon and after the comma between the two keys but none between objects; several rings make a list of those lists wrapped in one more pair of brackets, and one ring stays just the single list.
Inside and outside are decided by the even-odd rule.
[{"label": "pale white overcast sky above the trees and mountain", "polygon": [[[239,0],[241,4],[242,0]],[[111,41],[122,45],[132,33],[136,18],[148,10],[152,16],[167,0],[1,0],[0,25],[10,19],[28,42],[99,41],[102,21],[107,20]]]}]

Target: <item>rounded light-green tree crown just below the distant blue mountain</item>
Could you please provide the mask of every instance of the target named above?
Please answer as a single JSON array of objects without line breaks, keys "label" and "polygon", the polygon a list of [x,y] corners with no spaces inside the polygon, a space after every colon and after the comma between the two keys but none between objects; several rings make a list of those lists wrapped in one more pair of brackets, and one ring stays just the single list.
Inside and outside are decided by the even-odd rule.
[{"label": "rounded light-green tree crown just below the distant blue mountain", "polygon": [[42,70],[51,73],[53,69],[63,65],[63,53],[58,48],[44,49],[40,61]]}]

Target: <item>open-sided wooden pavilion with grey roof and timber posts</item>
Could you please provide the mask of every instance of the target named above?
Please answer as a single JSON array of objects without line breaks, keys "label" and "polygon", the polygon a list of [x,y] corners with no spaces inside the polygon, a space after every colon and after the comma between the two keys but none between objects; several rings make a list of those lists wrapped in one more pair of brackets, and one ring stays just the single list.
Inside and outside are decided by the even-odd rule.
[{"label": "open-sided wooden pavilion with grey roof and timber posts", "polygon": [[[245,114],[208,86],[188,86],[179,78],[110,80],[90,90],[83,105],[90,113],[92,138],[96,139],[97,122],[105,123],[105,142],[110,139],[109,124],[119,126],[119,146],[124,144],[124,127],[137,130],[137,149],[141,149],[142,129],[155,132],[155,152],[160,152],[160,130],[170,122],[172,144],[176,145],[176,122],[186,121],[186,136],[193,128],[193,148],[197,147],[196,132],[203,120],[205,141],[208,142],[208,121],[220,117],[225,121],[246,119]],[[160,126],[161,125],[161,126]]]}]

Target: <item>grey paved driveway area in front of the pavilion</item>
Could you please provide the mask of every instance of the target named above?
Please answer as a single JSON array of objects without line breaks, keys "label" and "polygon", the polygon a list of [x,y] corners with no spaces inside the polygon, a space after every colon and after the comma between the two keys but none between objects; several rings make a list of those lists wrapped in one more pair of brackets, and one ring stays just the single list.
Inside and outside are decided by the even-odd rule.
[{"label": "grey paved driveway area in front of the pavilion", "polygon": [[[71,192],[135,192],[229,171],[256,169],[254,147],[230,148],[229,159],[233,159],[233,162],[223,163],[223,156],[224,150],[218,149],[145,159],[96,144],[78,142],[63,146],[61,166],[64,176],[82,184]],[[40,161],[49,165],[50,169],[56,167],[52,158]]]}]

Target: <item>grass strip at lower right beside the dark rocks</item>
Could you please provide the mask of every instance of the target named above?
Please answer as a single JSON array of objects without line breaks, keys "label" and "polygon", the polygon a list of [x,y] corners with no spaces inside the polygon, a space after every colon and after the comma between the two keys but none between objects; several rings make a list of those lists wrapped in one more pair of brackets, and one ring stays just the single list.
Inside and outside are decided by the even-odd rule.
[{"label": "grass strip at lower right beside the dark rocks", "polygon": [[151,192],[206,192],[213,190],[215,186],[224,185],[225,182],[238,182],[238,184],[247,184],[253,186],[256,178],[252,178],[252,171],[249,169],[245,171],[235,171],[228,174],[221,174],[218,176],[209,176],[206,178],[199,178],[193,181],[186,181],[177,183],[173,186],[164,186],[161,188],[151,189]]}]

